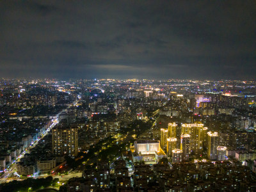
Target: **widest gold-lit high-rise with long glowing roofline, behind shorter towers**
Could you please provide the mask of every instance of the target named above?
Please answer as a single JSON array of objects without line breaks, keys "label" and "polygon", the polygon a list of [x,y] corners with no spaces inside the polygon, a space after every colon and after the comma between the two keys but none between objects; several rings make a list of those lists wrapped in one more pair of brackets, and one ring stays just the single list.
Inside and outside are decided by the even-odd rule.
[{"label": "widest gold-lit high-rise with long glowing roofline, behind shorter towers", "polygon": [[204,143],[204,124],[182,124],[181,133],[189,134],[191,136],[191,150],[193,150],[196,155],[202,154]]}]

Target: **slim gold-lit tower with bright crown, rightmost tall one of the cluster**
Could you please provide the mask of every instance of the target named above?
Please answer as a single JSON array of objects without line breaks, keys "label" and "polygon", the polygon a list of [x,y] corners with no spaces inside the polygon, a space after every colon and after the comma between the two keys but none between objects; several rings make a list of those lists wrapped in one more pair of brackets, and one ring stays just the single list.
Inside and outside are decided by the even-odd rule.
[{"label": "slim gold-lit tower with bright crown, rightmost tall one of the cluster", "polygon": [[210,160],[217,159],[218,132],[207,132],[207,157]]}]

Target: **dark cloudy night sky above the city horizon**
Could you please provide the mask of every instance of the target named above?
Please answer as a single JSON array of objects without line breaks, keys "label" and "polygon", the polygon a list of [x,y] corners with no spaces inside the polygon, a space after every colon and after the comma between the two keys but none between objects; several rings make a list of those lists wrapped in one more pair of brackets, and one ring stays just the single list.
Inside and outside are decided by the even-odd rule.
[{"label": "dark cloudy night sky above the city horizon", "polygon": [[255,79],[256,1],[0,2],[0,77]]}]

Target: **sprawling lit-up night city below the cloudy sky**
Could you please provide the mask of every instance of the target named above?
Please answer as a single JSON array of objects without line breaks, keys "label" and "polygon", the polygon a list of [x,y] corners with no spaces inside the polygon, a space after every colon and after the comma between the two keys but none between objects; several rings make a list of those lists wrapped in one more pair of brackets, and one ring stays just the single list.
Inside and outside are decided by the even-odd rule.
[{"label": "sprawling lit-up night city below the cloudy sky", "polygon": [[1,78],[0,109],[0,191],[256,189],[256,81]]}]

